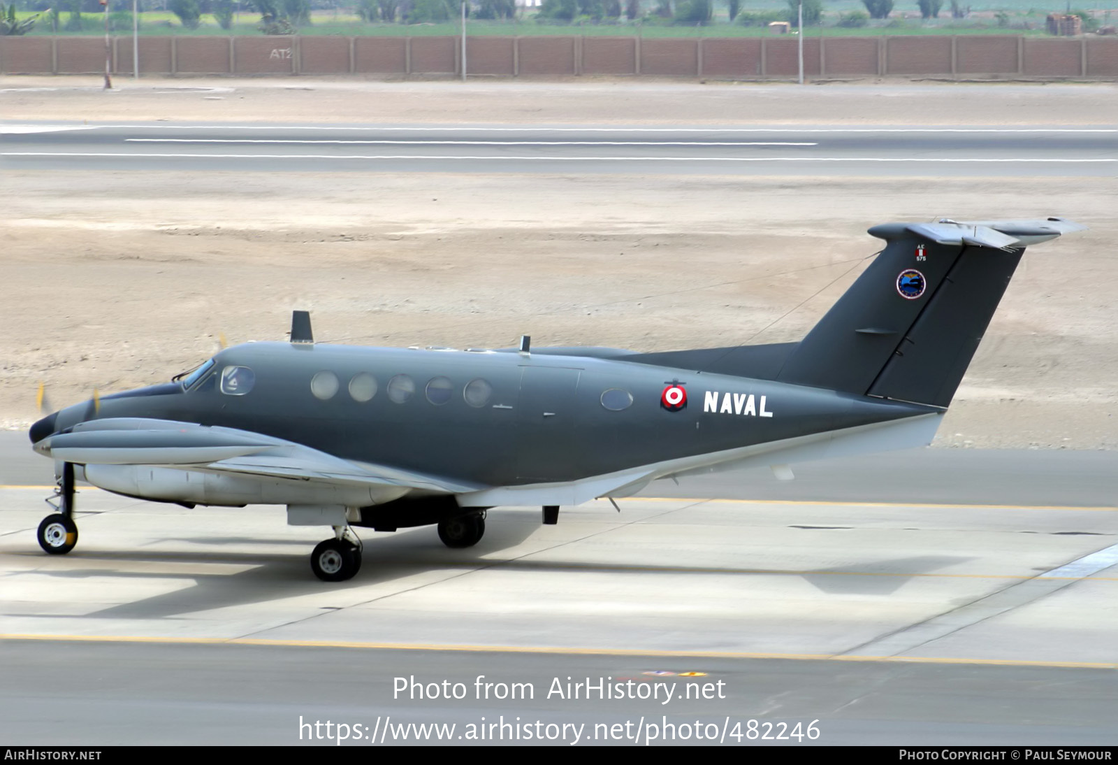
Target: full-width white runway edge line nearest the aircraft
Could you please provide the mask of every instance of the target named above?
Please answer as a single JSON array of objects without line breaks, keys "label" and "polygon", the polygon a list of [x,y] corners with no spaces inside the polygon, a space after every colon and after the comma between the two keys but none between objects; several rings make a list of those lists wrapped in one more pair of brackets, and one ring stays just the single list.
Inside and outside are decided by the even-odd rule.
[{"label": "full-width white runway edge line nearest the aircraft", "polygon": [[113,157],[125,159],[310,159],[310,160],[515,160],[524,162],[1060,162],[1099,163],[1118,162],[1116,159],[1057,159],[1057,158],[931,158],[931,157],[506,157],[453,155],[453,154],[199,154],[182,152],[127,153],[127,152],[78,152],[78,151],[4,151],[0,157]]}]

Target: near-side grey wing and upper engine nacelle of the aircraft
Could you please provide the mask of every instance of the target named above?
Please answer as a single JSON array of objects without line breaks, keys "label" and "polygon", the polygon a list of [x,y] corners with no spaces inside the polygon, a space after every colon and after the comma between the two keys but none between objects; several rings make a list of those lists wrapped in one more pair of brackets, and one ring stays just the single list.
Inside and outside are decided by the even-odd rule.
[{"label": "near-side grey wing and upper engine nacelle of the aircraft", "polygon": [[353,462],[260,433],[167,419],[117,417],[80,423],[44,438],[36,451],[77,464],[153,465],[347,485],[461,493],[482,484]]}]

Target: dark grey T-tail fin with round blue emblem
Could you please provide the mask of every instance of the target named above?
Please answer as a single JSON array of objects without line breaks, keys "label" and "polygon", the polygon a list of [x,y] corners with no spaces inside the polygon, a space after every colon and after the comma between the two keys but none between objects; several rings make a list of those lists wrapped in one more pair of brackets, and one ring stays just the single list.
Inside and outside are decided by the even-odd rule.
[{"label": "dark grey T-tail fin with round blue emblem", "polygon": [[796,347],[777,379],[946,407],[1026,245],[1062,218],[884,224],[884,251]]}]

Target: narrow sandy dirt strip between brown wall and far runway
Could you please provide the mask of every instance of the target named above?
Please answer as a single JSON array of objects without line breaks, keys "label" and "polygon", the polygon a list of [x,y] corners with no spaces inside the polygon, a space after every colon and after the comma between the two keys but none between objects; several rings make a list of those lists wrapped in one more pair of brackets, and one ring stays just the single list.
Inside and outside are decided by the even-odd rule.
[{"label": "narrow sandy dirt strip between brown wall and far runway", "polygon": [[0,77],[0,119],[357,123],[1115,124],[1118,84],[907,83],[799,87],[580,77],[381,82],[338,77]]}]

